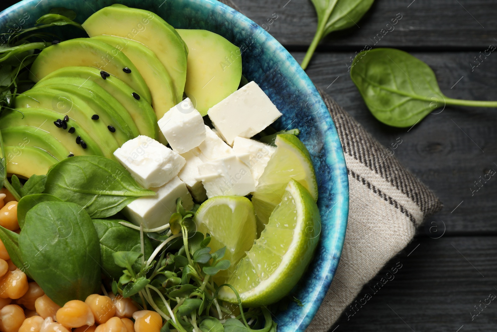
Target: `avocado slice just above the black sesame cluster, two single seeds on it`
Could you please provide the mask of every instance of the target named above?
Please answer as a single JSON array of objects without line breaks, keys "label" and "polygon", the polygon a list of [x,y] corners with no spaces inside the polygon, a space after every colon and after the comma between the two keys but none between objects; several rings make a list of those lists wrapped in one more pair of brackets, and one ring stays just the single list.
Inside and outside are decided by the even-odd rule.
[{"label": "avocado slice just above the black sesame cluster, two single seeds on it", "polygon": [[[97,110],[92,110],[83,99],[76,95],[61,92],[50,88],[30,89],[15,98],[16,108],[43,108],[60,113],[59,118],[62,119],[65,115],[69,116],[67,129],[57,128],[54,123],[52,125],[61,130],[67,130],[78,123],[83,127],[83,132],[75,132],[75,140],[77,136],[86,143],[88,138],[91,139],[100,147],[103,156],[109,159],[114,159],[113,152],[120,145],[112,133],[107,128],[107,123],[101,119],[93,120],[94,114],[99,115]],[[76,127],[75,127],[76,128]],[[86,144],[87,145],[87,144]]]}]

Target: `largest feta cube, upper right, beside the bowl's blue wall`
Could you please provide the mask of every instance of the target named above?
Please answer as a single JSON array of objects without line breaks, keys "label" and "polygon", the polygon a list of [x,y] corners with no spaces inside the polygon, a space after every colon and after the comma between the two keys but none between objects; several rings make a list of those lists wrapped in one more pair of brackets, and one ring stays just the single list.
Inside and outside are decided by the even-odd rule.
[{"label": "largest feta cube, upper right, beside the bowl's blue wall", "polygon": [[207,111],[224,140],[233,145],[235,137],[250,138],[281,116],[264,91],[250,82]]}]

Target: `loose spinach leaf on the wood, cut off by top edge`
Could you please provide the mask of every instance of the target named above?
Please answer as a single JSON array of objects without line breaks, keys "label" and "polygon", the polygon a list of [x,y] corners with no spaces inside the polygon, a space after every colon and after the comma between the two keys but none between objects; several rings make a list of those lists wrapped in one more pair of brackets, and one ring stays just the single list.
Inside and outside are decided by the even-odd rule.
[{"label": "loose spinach leaf on the wood, cut off by top edge", "polygon": [[318,28],[307,50],[302,69],[306,69],[321,39],[332,31],[357,25],[374,0],[311,0],[318,14]]}]

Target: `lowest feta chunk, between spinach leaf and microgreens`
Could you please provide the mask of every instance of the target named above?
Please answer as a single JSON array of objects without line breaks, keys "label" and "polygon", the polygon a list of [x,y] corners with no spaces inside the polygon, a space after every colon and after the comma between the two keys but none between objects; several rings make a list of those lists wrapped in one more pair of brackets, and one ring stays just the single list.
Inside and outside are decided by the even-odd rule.
[{"label": "lowest feta chunk, between spinach leaf and microgreens", "polygon": [[176,212],[176,199],[181,197],[183,208],[193,208],[188,189],[177,176],[159,188],[151,188],[156,196],[141,197],[128,204],[122,211],[136,225],[143,224],[145,228],[156,228],[169,222]]}]

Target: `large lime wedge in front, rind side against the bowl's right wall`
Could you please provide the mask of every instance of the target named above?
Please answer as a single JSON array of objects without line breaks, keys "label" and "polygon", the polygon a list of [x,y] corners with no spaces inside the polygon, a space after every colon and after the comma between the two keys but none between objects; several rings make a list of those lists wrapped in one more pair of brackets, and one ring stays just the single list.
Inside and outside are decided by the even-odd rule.
[{"label": "large lime wedge in front, rind side against the bowl's right wall", "polygon": [[[268,305],[288,294],[304,274],[318,244],[321,218],[309,191],[290,180],[282,198],[227,281],[248,307]],[[221,288],[219,298],[238,301],[226,286]]]}]

